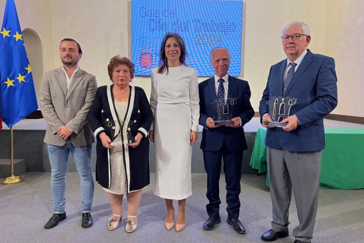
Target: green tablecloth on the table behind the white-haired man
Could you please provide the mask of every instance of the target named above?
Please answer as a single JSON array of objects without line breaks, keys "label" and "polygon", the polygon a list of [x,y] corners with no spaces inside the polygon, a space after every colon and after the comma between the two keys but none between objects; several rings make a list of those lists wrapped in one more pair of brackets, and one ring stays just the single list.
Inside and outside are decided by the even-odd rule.
[{"label": "green tablecloth on the table behind the white-haired man", "polygon": [[[265,127],[255,136],[249,165],[258,173],[267,171]],[[322,151],[320,187],[331,189],[364,188],[364,129],[325,129],[326,148]],[[269,187],[269,175],[266,185]]]}]

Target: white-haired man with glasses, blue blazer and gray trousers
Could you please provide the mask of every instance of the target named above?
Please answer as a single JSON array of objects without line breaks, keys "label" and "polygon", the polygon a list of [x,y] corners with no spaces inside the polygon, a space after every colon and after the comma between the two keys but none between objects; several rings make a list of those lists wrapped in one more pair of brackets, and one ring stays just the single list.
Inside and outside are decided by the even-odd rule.
[{"label": "white-haired man with glasses, blue blazer and gray trousers", "polygon": [[311,242],[318,203],[321,150],[325,148],[323,118],[337,105],[334,59],[307,49],[310,29],[292,22],[282,30],[287,58],[270,68],[260,101],[262,121],[272,121],[266,102],[271,97],[297,98],[285,127],[266,126],[265,144],[272,199],[272,229],[264,241],[288,236],[288,211],[292,188],[299,225],[293,230],[295,243]]}]

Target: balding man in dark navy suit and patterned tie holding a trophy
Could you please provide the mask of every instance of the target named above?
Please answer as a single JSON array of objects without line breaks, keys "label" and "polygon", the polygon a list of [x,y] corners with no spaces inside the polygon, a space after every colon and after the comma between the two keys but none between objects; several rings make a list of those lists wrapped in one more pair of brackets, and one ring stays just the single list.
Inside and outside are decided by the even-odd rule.
[{"label": "balding man in dark navy suit and patterned tie holding a trophy", "polygon": [[[229,75],[230,52],[226,48],[215,48],[211,51],[210,61],[215,70],[211,77],[199,84],[199,123],[203,126],[200,148],[203,151],[203,161],[207,173],[206,205],[208,220],[204,229],[212,229],[221,222],[219,214],[219,178],[221,159],[224,158],[224,173],[226,181],[227,223],[235,232],[245,233],[245,228],[239,221],[240,210],[240,178],[243,150],[247,149],[243,125],[254,116],[250,104],[250,88],[247,81]],[[214,109],[210,106],[215,99],[236,99],[232,106],[232,125],[215,125]]]}]

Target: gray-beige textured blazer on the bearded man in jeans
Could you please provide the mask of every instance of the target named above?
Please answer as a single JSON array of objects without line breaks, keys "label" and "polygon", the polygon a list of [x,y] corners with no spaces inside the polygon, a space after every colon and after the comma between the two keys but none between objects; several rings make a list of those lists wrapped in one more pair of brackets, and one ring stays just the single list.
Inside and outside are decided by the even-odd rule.
[{"label": "gray-beige textured blazer on the bearded man in jeans", "polygon": [[44,73],[39,103],[47,122],[45,143],[65,145],[66,141],[57,136],[58,128],[63,125],[73,132],[70,138],[74,146],[81,147],[95,142],[90,126],[86,124],[86,117],[96,89],[96,77],[81,68],[74,74],[68,89],[62,68]]}]

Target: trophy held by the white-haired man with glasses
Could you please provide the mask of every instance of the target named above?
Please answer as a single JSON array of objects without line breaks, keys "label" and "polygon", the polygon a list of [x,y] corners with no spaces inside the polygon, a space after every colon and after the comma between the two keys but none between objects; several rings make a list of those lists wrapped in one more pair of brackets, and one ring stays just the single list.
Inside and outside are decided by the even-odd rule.
[{"label": "trophy held by the white-haired man with glasses", "polygon": [[289,117],[291,107],[296,104],[297,98],[291,97],[272,97],[268,104],[268,114],[272,121],[262,121],[263,125],[283,127],[288,122],[280,123],[282,120]]}]

